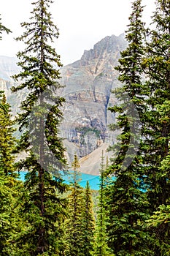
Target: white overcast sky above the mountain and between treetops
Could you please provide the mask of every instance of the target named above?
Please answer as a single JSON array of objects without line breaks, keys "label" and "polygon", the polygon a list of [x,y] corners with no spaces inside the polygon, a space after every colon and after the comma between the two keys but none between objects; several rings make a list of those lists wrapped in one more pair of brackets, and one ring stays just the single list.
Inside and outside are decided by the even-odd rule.
[{"label": "white overcast sky above the mountain and between treetops", "polygon": [[[23,45],[15,42],[22,34],[20,23],[31,17],[33,0],[1,0],[1,23],[12,30],[0,41],[1,56],[15,56]],[[142,0],[146,5],[143,20],[149,26],[155,0]],[[104,37],[122,34],[131,13],[131,0],[54,0],[50,12],[60,37],[55,43],[61,62],[69,64],[81,58],[84,50]]]}]

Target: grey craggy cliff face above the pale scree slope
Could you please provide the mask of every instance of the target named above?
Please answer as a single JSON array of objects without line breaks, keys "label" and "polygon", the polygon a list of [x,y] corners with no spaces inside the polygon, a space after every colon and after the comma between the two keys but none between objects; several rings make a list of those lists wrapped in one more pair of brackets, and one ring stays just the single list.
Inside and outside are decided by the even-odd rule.
[{"label": "grey craggy cliff face above the pale scree slope", "polygon": [[72,143],[71,158],[74,152],[84,157],[102,143],[115,142],[115,134],[108,129],[115,116],[108,107],[115,104],[111,94],[118,86],[114,67],[125,46],[123,35],[105,37],[93,49],[85,50],[79,61],[62,69],[61,83],[66,86],[62,136]]}]

